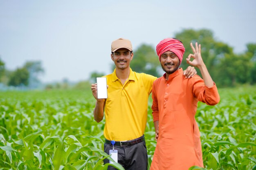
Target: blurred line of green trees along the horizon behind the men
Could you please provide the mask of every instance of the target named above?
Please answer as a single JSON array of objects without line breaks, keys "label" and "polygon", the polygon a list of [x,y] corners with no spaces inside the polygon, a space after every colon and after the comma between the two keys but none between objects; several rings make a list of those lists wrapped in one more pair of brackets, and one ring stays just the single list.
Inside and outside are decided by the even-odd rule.
[{"label": "blurred line of green trees along the horizon behind the men", "polygon": [[[180,67],[187,68],[186,57],[192,53],[190,42],[198,42],[202,45],[201,53],[211,77],[218,87],[236,86],[239,84],[256,84],[256,43],[246,44],[246,51],[235,53],[228,44],[216,40],[209,29],[184,29],[175,33],[174,38],[182,41],[186,51]],[[135,51],[130,66],[133,71],[146,73],[160,77],[163,74],[155,47],[141,44]],[[7,86],[27,86],[36,88],[40,84],[38,76],[44,72],[40,61],[26,62],[24,66],[15,71],[5,69],[4,62],[0,58],[0,83]],[[115,68],[113,63],[112,70]],[[197,69],[197,68],[196,68]],[[197,70],[198,75],[200,71]],[[89,82],[95,82],[95,77],[101,77],[105,73],[94,71]],[[200,75],[201,76],[201,75]],[[79,84],[79,87],[81,83]]]}]

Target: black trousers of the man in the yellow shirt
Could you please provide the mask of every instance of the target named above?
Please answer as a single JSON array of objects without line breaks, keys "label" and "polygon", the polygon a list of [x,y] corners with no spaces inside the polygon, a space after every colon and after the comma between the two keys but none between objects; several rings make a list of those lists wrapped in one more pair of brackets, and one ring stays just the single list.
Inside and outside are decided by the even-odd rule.
[{"label": "black trousers of the man in the yellow shirt", "polygon": [[[109,150],[113,146],[104,144],[104,152],[109,155]],[[148,152],[146,142],[143,141],[138,144],[130,146],[115,146],[118,150],[118,163],[120,163],[126,170],[147,170],[148,168]],[[104,159],[104,164],[109,163],[108,159]],[[108,166],[108,170],[117,170],[112,166]]]}]

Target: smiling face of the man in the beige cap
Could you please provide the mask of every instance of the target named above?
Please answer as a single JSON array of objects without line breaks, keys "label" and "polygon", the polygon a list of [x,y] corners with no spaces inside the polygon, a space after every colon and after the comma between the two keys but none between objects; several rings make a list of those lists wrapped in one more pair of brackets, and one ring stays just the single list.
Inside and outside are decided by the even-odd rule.
[{"label": "smiling face of the man in the beige cap", "polygon": [[133,53],[130,50],[122,48],[111,54],[111,59],[115,62],[117,69],[130,68],[130,61],[132,60]]}]

